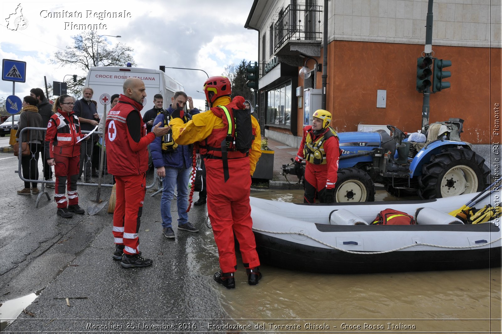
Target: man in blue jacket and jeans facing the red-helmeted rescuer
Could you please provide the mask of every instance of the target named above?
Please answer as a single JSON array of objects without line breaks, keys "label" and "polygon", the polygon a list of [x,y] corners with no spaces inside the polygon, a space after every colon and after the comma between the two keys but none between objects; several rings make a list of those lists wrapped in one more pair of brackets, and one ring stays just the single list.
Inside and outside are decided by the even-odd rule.
[{"label": "man in blue jacket and jeans facing the red-helmeted rescuer", "polygon": [[[185,113],[184,118],[187,122],[191,115],[199,113],[197,108],[193,107],[192,98],[184,92],[176,92],[171,98],[171,105],[167,112],[159,114],[154,124],[162,123],[166,127],[171,121],[171,114],[177,108],[183,109],[188,102],[190,111]],[[161,127],[162,127],[161,126]],[[167,135],[157,137],[151,144],[152,160],[157,168],[157,175],[164,178],[162,198],[160,200],[160,212],[162,216],[162,233],[166,238],[174,238],[171,216],[171,200],[174,191],[178,188],[177,207],[178,207],[178,230],[189,232],[198,232],[199,230],[188,221],[188,183],[190,171],[192,170],[192,147],[191,145],[177,145],[173,140],[172,132]]]}]

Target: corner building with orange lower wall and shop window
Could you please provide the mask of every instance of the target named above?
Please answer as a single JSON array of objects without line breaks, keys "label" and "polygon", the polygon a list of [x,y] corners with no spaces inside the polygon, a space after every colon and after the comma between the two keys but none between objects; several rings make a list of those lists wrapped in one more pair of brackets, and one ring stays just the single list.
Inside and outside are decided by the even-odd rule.
[{"label": "corner building with orange lower wall and shop window", "polygon": [[[433,6],[433,57],[451,60],[452,66],[446,68],[451,88],[430,95],[429,123],[461,118],[463,140],[496,143],[499,113],[494,109],[502,102],[501,6],[489,0],[457,2],[442,0]],[[298,71],[323,63],[323,5],[255,0],[245,24],[259,32],[257,104],[263,134],[294,147],[308,118],[305,89],[321,89],[322,72],[313,70],[304,80]],[[326,109],[337,131],[357,131],[360,124],[421,129],[424,95],[416,90],[416,75],[427,6],[428,0],[329,2]],[[385,105],[377,107],[382,92]]]}]

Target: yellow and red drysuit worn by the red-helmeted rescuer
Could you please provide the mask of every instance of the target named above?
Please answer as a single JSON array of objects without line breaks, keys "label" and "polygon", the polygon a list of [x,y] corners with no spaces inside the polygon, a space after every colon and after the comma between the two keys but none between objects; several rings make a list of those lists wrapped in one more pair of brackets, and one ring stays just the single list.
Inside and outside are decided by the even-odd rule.
[{"label": "yellow and red drysuit worn by the red-helmeted rescuer", "polygon": [[[237,96],[230,102],[227,96],[219,97],[213,106],[225,106],[228,111],[244,109],[244,98]],[[237,267],[235,258],[234,235],[239,242],[242,262],[245,268],[260,266],[256,252],[255,235],[251,229],[253,220],[249,206],[251,177],[255,173],[256,163],[262,154],[260,125],[252,120],[254,140],[249,155],[239,151],[228,151],[228,175],[225,182],[221,150],[221,142],[227,135],[227,125],[221,108],[194,115],[192,120],[184,124],[175,118],[170,125],[173,137],[179,145],[198,142],[201,155],[204,156],[207,182],[207,211],[211,220],[214,241],[218,247],[219,264],[223,273],[233,273]]]}]

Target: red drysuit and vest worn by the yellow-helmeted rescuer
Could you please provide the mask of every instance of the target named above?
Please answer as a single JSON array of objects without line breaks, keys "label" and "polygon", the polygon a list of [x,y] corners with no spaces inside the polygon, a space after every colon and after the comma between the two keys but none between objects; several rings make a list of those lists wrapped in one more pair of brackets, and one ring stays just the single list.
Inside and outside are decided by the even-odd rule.
[{"label": "red drysuit and vest worn by the yellow-helmeted rescuer", "polygon": [[[334,135],[325,139],[324,135],[328,131]],[[334,130],[328,126],[316,135],[312,125],[303,128],[303,138],[295,160],[301,162],[306,158],[304,203],[315,203],[316,198],[323,203],[324,189],[335,188],[339,157],[338,136]]]}]

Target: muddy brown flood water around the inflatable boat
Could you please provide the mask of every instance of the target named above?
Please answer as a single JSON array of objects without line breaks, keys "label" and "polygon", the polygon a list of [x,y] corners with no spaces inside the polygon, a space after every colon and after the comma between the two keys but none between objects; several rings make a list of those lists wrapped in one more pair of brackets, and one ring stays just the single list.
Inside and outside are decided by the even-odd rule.
[{"label": "muddy brown flood water around the inflatable boat", "polygon": [[[253,191],[252,196],[301,202],[303,191]],[[378,191],[376,200],[396,198]],[[500,268],[360,275],[312,274],[263,265],[261,270],[264,276],[258,286],[245,286],[246,277],[240,272],[237,288],[222,293],[232,318],[267,319],[239,323],[265,322],[265,330],[276,328],[276,332],[281,332],[279,325],[296,324],[312,332],[501,330]],[[330,328],[309,330],[314,323]],[[295,331],[299,330],[283,330]]]}]

